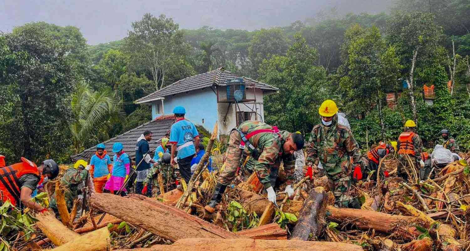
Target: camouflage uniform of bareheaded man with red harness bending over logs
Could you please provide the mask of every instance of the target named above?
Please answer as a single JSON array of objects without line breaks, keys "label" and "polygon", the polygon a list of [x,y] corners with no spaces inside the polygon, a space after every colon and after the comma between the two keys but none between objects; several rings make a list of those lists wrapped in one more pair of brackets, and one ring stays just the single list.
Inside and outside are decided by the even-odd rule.
[{"label": "camouflage uniform of bareheaded man with red harness bending over logs", "polygon": [[[241,130],[245,135],[260,129],[273,130],[270,125],[261,121],[245,121],[238,127],[238,130]],[[279,134],[281,137],[276,133],[262,132],[249,139],[251,145],[259,153],[258,161],[254,162],[254,170],[266,189],[272,186],[272,177],[270,178],[270,175],[276,175],[277,177],[277,170],[281,164],[281,159],[284,163],[284,171],[287,177],[286,184],[292,185],[294,183],[295,159],[291,154],[282,154],[282,145],[289,139],[290,132],[281,131]],[[242,154],[252,156],[249,147],[240,149],[241,140],[240,133],[237,130],[232,130],[228,141],[226,166],[218,179],[222,185],[230,184],[235,178],[235,172],[240,165]]]}]

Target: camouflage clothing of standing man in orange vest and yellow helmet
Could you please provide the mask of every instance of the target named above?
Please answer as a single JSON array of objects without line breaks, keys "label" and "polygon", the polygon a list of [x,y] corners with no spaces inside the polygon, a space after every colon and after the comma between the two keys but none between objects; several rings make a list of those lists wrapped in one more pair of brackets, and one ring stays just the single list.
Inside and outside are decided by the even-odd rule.
[{"label": "camouflage clothing of standing man in orange vest and yellow helmet", "polygon": [[[416,134],[415,130],[412,128],[407,128],[405,129],[405,132],[414,132],[415,135],[413,136],[413,150],[415,151],[414,155],[411,154],[398,154],[398,165],[397,165],[397,174],[405,179],[408,178],[408,173],[412,174],[414,173],[413,170],[411,169],[412,167],[410,166],[410,162],[408,160],[408,157],[411,159],[411,163],[415,166],[416,173],[418,175],[418,178],[420,176],[420,161],[421,161],[421,152],[423,151],[423,141],[421,141],[421,138],[419,137],[418,134]],[[400,150],[400,140],[397,141],[397,149],[398,151]]]}]

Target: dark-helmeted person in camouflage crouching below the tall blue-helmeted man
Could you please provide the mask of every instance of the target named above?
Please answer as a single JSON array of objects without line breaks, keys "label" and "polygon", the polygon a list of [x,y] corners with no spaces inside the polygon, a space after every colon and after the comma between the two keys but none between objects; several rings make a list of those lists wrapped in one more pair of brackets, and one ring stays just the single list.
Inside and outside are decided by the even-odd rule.
[{"label": "dark-helmeted person in camouflage crouching below the tall blue-helmeted man", "polygon": [[[169,191],[173,185],[175,185],[176,173],[173,166],[170,164],[171,155],[169,153],[161,154],[160,159],[149,169],[147,172],[147,178],[144,181],[144,188],[142,194],[147,193],[147,187],[155,185],[159,188],[157,176],[159,173],[162,174],[164,190]],[[157,189],[159,192],[160,189]],[[158,193],[157,192],[157,193]]]}]

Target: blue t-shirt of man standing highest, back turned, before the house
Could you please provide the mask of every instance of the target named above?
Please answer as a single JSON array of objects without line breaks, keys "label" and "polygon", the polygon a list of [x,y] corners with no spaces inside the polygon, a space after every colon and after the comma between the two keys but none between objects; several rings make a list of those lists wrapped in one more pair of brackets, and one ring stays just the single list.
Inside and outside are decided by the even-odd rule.
[{"label": "blue t-shirt of man standing highest, back turned, before the house", "polygon": [[193,139],[198,137],[199,133],[194,124],[187,120],[176,121],[170,130],[170,143],[176,143],[178,159],[183,159],[196,154],[196,148]]}]

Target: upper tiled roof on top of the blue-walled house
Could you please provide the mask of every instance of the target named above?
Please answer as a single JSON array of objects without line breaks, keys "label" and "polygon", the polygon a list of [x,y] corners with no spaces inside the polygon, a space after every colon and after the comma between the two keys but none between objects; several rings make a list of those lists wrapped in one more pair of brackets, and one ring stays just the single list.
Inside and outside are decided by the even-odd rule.
[{"label": "upper tiled roof on top of the blue-walled house", "polygon": [[[158,97],[165,97],[168,95],[174,95],[182,92],[204,89],[211,86],[226,86],[227,80],[241,78],[240,76],[226,71],[224,67],[220,67],[217,70],[194,75],[182,80],[176,81],[163,89],[157,90],[156,92],[142,97],[135,102],[146,103]],[[278,88],[270,86],[268,84],[252,80],[250,78],[243,78],[246,82],[247,88],[258,88],[266,91],[277,91]]]}]

